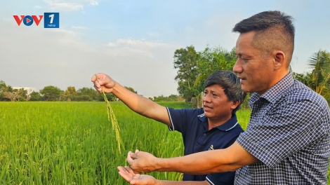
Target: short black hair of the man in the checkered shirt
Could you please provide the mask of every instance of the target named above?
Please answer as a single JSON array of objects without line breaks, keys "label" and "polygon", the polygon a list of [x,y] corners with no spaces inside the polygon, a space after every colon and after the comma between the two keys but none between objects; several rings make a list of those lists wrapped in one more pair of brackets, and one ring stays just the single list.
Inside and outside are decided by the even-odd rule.
[{"label": "short black hair of the man in the checkered shirt", "polygon": [[263,54],[272,50],[282,50],[287,55],[289,67],[295,34],[292,20],[290,15],[280,11],[264,11],[238,22],[232,32],[256,32],[253,36],[253,46]]}]

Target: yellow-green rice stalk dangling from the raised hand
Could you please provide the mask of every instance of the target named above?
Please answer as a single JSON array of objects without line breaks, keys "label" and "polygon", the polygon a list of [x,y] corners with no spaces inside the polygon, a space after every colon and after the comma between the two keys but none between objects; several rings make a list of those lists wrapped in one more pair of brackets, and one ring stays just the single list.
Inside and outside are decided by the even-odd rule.
[{"label": "yellow-green rice stalk dangling from the raised hand", "polygon": [[[96,77],[96,81],[98,81],[98,75],[95,74]],[[98,83],[100,83],[98,81]],[[105,102],[107,103],[107,120],[110,121],[111,118],[111,123],[112,123],[112,130],[114,130],[114,132],[116,132],[116,139],[117,139],[117,143],[118,143],[118,149],[119,149],[119,153],[121,154],[121,149],[120,149],[120,144],[122,144],[121,142],[121,138],[119,135],[119,125],[116,119],[116,116],[114,116],[114,111],[112,111],[112,108],[110,106],[110,102],[109,100],[107,100],[107,96],[105,95],[105,92],[103,91],[102,87],[101,87],[102,93],[103,93],[103,98],[105,100]]]}]

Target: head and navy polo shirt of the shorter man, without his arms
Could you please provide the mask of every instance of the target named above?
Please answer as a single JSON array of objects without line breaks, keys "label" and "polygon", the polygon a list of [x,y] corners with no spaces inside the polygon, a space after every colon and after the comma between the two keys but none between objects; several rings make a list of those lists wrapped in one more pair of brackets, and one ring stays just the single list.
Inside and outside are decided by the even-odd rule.
[{"label": "head and navy polo shirt of the shorter man, without his arms", "polygon": [[[225,149],[243,132],[235,115],[239,108],[237,105],[244,100],[238,80],[231,71],[216,71],[205,81],[203,108],[168,109],[171,121],[169,129],[182,133],[185,155]],[[235,172],[183,175],[184,181],[206,179],[209,184],[233,184],[234,178]]]}]

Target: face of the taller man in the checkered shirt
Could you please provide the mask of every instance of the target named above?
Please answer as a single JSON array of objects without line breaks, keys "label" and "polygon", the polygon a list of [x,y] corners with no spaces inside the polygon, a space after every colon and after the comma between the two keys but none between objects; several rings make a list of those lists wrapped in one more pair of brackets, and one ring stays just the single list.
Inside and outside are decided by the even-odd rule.
[{"label": "face of the taller man in the checkered shirt", "polygon": [[260,51],[252,46],[255,32],[240,34],[236,42],[235,53],[237,61],[233,71],[237,73],[245,92],[263,95],[272,87],[275,70],[272,58],[262,56]]}]

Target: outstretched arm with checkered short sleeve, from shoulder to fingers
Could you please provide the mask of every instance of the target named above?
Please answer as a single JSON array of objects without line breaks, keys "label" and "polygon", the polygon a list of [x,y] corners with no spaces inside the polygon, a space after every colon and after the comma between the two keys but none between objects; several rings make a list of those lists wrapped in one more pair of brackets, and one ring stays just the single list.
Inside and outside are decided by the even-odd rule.
[{"label": "outstretched arm with checkered short sleeve, from shoulder to fingers", "polygon": [[[258,161],[268,167],[274,167],[306,146],[310,151],[305,152],[306,154],[301,152],[305,158],[317,156],[310,153],[318,154],[319,150],[315,149],[319,144],[317,142],[322,142],[322,137],[326,135],[326,125],[320,122],[326,116],[319,107],[312,102],[299,101],[284,102],[278,107],[270,107],[270,110],[272,111],[268,113],[267,118],[253,118],[249,123],[251,128],[242,133],[227,149],[165,159],[155,158],[150,153],[136,152],[129,153],[128,163],[135,172],[175,171],[208,174],[234,171]],[[301,160],[304,159],[299,159],[298,162]]]}]

